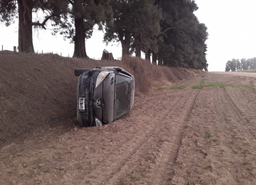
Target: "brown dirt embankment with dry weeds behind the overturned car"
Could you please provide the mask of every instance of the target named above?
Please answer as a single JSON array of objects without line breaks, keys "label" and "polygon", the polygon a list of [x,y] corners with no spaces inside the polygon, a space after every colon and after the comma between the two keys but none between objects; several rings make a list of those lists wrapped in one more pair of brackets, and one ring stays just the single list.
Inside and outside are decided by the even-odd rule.
[{"label": "brown dirt embankment with dry weeds behind the overturned car", "polygon": [[[136,96],[200,73],[199,70],[152,66],[138,58],[98,61],[52,54],[0,52],[0,142],[33,128],[75,118],[75,68],[120,66],[135,76]],[[69,126],[73,125],[68,123]],[[1,143],[0,143],[1,144]]]}]

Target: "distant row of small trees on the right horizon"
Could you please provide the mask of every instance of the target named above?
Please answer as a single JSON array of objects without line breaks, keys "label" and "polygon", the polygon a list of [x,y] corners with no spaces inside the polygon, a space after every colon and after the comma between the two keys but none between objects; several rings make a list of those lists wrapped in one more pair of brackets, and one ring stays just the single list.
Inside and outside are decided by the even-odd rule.
[{"label": "distant row of small trees on the right horizon", "polygon": [[241,71],[247,69],[256,69],[256,57],[228,60],[225,71]]}]

